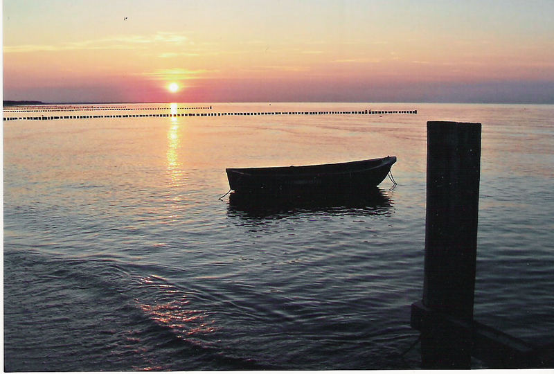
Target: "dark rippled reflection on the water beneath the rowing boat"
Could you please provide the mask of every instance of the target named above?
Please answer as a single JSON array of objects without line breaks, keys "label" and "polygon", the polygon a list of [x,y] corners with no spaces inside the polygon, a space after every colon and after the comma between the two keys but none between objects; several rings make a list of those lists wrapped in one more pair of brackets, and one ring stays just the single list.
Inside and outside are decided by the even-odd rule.
[{"label": "dark rippled reflection on the water beneath the rowing boat", "polygon": [[229,214],[241,217],[282,218],[305,213],[328,215],[382,215],[390,212],[393,202],[381,188],[364,191],[303,195],[257,195],[231,193]]}]

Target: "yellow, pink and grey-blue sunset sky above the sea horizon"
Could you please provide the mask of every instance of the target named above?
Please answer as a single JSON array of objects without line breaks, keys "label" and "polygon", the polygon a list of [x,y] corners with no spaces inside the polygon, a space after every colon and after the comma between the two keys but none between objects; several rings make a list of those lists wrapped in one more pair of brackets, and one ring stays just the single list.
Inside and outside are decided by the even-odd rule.
[{"label": "yellow, pink and grey-blue sunset sky above the sea horizon", "polygon": [[4,100],[554,103],[553,0],[3,0],[2,14]]}]

